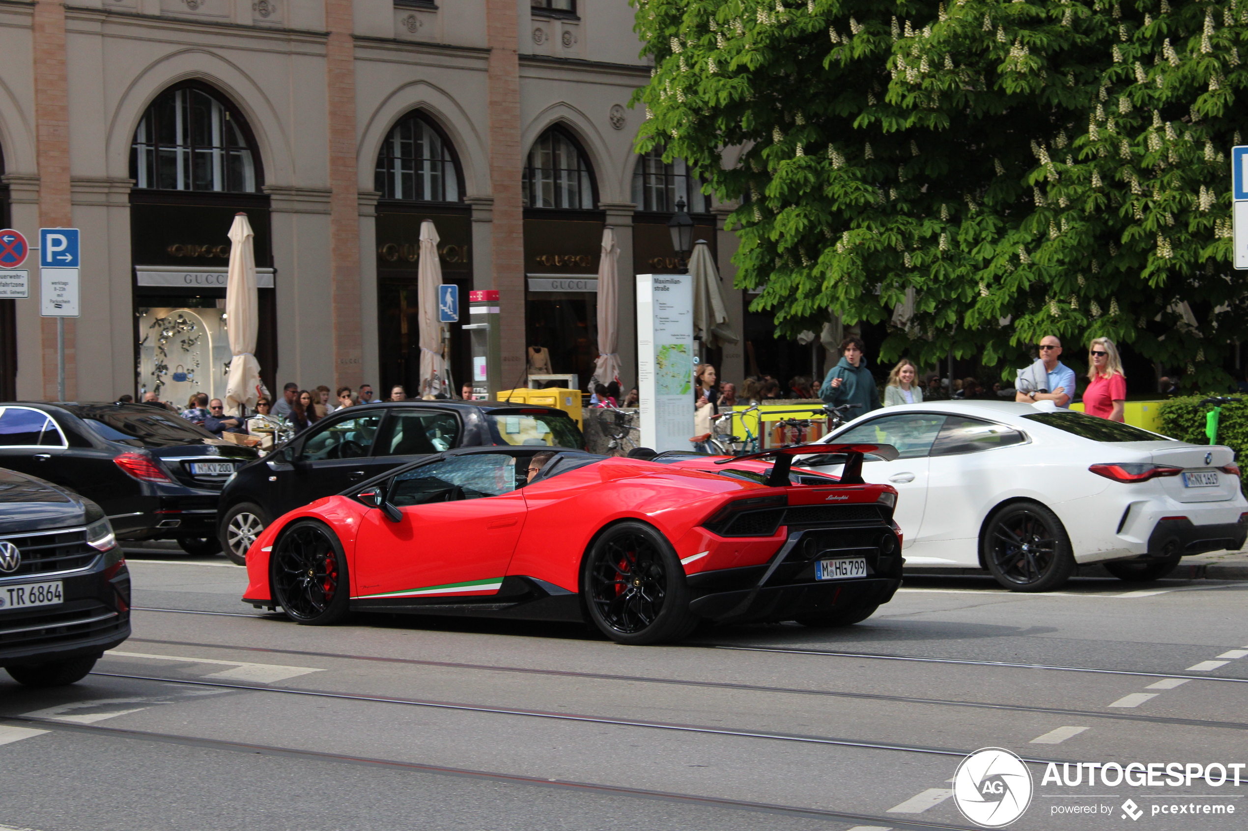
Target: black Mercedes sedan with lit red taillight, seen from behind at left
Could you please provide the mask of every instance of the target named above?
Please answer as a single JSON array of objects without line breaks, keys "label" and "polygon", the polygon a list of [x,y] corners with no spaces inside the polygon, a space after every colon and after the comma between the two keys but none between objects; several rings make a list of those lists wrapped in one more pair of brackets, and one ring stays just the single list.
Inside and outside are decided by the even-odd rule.
[{"label": "black Mercedes sedan with lit red taillight, seen from behind at left", "polygon": [[0,467],[94,501],[119,539],[217,553],[221,486],[256,457],[146,404],[0,404]]}]

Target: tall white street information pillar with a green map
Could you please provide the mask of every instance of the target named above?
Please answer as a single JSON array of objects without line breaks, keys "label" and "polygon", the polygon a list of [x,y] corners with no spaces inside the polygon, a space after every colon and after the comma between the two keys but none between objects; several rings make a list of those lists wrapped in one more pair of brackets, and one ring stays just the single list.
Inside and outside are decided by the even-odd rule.
[{"label": "tall white street information pillar with a green map", "polygon": [[636,391],[641,446],[693,450],[694,282],[688,274],[636,275]]}]

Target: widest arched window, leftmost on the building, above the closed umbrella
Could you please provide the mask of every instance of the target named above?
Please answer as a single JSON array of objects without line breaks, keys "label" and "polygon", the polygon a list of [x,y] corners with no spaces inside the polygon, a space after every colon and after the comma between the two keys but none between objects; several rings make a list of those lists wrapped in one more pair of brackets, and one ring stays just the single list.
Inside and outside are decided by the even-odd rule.
[{"label": "widest arched window, leftmost on the building, above the closed umbrella", "polygon": [[255,193],[260,176],[238,112],[202,86],[183,86],[147,107],[130,150],[136,187]]}]

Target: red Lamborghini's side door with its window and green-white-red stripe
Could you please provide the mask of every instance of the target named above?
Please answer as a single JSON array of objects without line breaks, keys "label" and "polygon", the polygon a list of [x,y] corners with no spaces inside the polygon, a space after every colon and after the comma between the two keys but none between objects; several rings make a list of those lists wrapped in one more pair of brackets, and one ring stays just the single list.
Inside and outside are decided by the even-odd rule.
[{"label": "red Lamborghini's side door with its window and green-white-red stripe", "polygon": [[394,477],[389,502],[402,521],[379,508],[361,520],[354,598],[498,592],[524,527],[515,456],[474,452],[414,467]]}]

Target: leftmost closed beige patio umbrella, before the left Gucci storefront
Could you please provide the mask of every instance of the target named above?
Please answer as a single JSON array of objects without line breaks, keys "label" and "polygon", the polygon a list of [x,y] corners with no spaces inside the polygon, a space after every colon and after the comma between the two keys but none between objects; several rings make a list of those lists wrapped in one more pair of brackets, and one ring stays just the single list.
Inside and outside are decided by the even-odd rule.
[{"label": "leftmost closed beige patio umbrella, before the left Gucci storefront", "polygon": [[230,226],[230,268],[226,273],[226,330],[230,333],[230,379],[226,382],[225,411],[246,415],[261,395],[268,395],[260,380],[256,360],[256,335],[260,331],[260,300],[256,293],[255,232],[247,214],[235,214]]}]

